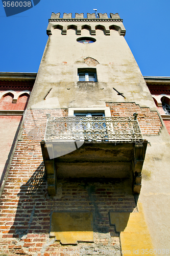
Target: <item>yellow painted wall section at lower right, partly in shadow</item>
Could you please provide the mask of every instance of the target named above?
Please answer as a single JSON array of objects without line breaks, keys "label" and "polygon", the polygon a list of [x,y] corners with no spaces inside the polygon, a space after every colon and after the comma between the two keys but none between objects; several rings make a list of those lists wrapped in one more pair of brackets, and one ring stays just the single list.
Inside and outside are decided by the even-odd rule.
[{"label": "yellow painted wall section at lower right, partly in shadow", "polygon": [[138,203],[138,212],[110,212],[110,222],[120,232],[122,254],[157,255],[144,220],[141,203]]}]

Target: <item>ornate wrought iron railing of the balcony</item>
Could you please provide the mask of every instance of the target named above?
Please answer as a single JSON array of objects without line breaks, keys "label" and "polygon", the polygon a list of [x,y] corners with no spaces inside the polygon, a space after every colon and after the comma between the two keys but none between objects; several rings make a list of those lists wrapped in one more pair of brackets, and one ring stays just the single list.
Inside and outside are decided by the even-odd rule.
[{"label": "ornate wrought iron railing of the balcony", "polygon": [[[137,115],[137,114],[135,114]],[[50,116],[50,115],[49,115]],[[48,117],[45,141],[140,141],[134,117]]]}]

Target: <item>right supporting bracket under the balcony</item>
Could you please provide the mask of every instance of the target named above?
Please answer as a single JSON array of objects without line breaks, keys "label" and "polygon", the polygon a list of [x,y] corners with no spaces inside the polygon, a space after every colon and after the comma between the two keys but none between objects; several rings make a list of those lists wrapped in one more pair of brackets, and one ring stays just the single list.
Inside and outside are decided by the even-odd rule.
[{"label": "right supporting bracket under the balcony", "polygon": [[148,141],[134,144],[134,158],[132,160],[133,182],[132,189],[134,194],[139,194],[141,189],[141,170],[144,162],[145,152]]}]

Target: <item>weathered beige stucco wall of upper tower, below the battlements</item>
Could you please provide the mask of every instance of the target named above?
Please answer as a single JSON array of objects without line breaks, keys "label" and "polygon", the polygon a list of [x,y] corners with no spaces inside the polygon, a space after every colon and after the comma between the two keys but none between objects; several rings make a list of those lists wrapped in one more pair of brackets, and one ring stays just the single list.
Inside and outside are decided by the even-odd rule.
[{"label": "weathered beige stucco wall of upper tower, below the battlements", "polygon": [[[82,31],[83,36],[90,36],[88,30]],[[85,45],[77,42],[80,36],[74,29],[69,29],[67,35],[54,29],[44,50],[29,107],[105,106],[106,101],[130,102],[135,99],[136,104],[156,110],[124,36],[110,31],[106,36],[102,30],[96,30],[96,35],[91,36],[96,41]],[[96,59],[99,64],[88,66],[84,60],[87,57]],[[78,68],[96,68],[98,82],[78,82]],[[117,95],[113,87],[126,98]],[[47,103],[44,97],[51,88],[45,98],[51,99]]]}]

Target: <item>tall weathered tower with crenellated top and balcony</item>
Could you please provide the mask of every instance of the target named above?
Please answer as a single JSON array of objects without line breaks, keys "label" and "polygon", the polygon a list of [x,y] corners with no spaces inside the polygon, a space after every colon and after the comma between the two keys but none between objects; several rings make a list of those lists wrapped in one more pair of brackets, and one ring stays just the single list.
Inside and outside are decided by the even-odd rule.
[{"label": "tall weathered tower with crenellated top and balcony", "polygon": [[167,254],[169,135],[125,32],[118,14],[52,13],[2,194],[6,251]]}]

